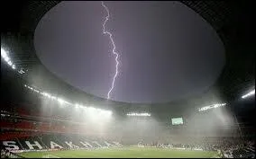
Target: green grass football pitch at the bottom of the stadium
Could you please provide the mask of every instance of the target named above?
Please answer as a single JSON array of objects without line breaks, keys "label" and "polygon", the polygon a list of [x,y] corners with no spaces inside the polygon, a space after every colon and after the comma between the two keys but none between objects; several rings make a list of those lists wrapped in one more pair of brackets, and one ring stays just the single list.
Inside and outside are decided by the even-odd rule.
[{"label": "green grass football pitch at the bottom of the stadium", "polygon": [[65,150],[51,152],[26,152],[21,153],[26,158],[42,158],[43,155],[56,156],[59,158],[212,158],[215,152],[190,151],[190,150],[171,150],[160,148],[139,148],[126,147],[122,149],[109,148],[97,150]]}]

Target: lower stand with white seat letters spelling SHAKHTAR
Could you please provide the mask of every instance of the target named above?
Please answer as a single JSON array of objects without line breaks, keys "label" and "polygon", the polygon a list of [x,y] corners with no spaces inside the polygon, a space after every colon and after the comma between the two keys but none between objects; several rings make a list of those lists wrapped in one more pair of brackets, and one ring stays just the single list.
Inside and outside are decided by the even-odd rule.
[{"label": "lower stand with white seat letters spelling SHAKHTAR", "polygon": [[[1,147],[13,152],[19,150],[77,149],[121,146],[119,143],[96,137],[75,134],[34,134],[29,132],[6,132],[1,137]],[[7,135],[12,134],[12,135]]]}]

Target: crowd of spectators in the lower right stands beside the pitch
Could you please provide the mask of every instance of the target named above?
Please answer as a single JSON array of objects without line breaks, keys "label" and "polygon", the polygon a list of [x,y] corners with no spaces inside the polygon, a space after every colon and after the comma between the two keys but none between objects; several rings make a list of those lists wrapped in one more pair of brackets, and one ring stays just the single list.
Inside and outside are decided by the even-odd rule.
[{"label": "crowd of spectators in the lower right stands beside the pitch", "polygon": [[220,157],[226,158],[254,158],[255,157],[255,142],[251,138],[242,137],[205,137],[204,141],[195,142],[190,139],[187,144],[160,144],[151,142],[144,144],[140,142],[139,146],[156,146],[160,148],[181,148],[191,150],[217,151]]}]

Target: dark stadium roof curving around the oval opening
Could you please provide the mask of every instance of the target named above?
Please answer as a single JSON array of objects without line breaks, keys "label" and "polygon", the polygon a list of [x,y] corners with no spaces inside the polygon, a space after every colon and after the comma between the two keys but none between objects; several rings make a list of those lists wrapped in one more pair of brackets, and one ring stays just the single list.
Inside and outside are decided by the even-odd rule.
[{"label": "dark stadium roof curving around the oval opening", "polygon": [[[248,2],[234,1],[181,1],[209,22],[224,42],[226,62],[222,75],[206,93],[188,99],[194,104],[204,105],[215,99],[233,101],[255,85],[255,46],[252,43],[254,27],[252,9]],[[51,91],[66,90],[72,99],[119,105],[121,102],[106,102],[105,99],[81,92],[51,74],[35,54],[34,30],[41,17],[59,1],[7,2],[2,19],[1,47],[14,52],[11,58],[17,67],[28,70],[23,79],[38,87]],[[4,24],[4,25],[3,25]],[[30,75],[36,75],[33,79]],[[43,82],[43,83],[42,83]],[[57,91],[58,92],[58,91]],[[217,96],[216,96],[217,95]],[[172,102],[175,103],[175,102]],[[123,103],[129,105],[129,103]],[[170,103],[167,103],[170,104]]]}]

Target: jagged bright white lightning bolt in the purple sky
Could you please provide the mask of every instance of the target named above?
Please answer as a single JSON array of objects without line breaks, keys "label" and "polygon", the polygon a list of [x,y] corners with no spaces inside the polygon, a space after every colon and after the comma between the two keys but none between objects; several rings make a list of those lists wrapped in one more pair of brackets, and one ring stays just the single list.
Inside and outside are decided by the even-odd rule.
[{"label": "jagged bright white lightning bolt in the purple sky", "polygon": [[114,89],[114,82],[115,82],[115,78],[116,76],[118,75],[118,65],[119,65],[119,61],[118,61],[118,53],[115,51],[115,44],[114,44],[114,40],[113,40],[113,35],[112,33],[110,33],[109,31],[105,31],[105,23],[109,20],[109,10],[108,8],[105,6],[104,2],[101,1],[101,5],[105,8],[105,11],[107,13],[106,17],[105,17],[105,21],[103,22],[103,33],[104,34],[107,34],[109,36],[109,39],[111,40],[112,42],[112,46],[113,46],[113,49],[112,49],[112,53],[114,54],[115,56],[115,74],[114,74],[114,77],[113,77],[113,81],[112,81],[112,85],[111,85],[111,88],[110,90],[108,91],[107,93],[107,99],[110,98],[110,93],[112,92],[112,90]]}]

